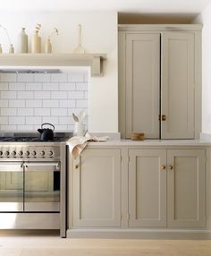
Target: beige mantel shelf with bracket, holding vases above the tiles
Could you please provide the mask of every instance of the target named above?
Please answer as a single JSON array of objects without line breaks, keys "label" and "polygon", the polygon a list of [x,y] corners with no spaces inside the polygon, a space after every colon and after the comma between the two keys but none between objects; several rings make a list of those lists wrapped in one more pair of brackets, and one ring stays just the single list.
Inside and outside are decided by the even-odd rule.
[{"label": "beige mantel shelf with bracket, holding vases above the tiles", "polygon": [[91,75],[103,74],[105,54],[1,54],[0,67],[90,66]]}]

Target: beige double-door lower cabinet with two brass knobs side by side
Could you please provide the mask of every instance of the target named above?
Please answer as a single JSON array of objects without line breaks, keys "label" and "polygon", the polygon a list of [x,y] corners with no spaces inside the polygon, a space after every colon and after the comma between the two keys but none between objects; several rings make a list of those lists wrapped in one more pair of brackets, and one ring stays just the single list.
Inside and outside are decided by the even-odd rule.
[{"label": "beige double-door lower cabinet with two brass knobs side by side", "polygon": [[129,226],[205,226],[204,149],[129,149],[129,157]]}]

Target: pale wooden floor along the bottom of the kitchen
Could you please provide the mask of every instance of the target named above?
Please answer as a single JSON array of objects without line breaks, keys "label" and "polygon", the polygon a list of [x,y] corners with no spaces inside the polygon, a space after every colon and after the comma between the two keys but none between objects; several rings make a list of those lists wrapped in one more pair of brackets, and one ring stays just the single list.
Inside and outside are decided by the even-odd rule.
[{"label": "pale wooden floor along the bottom of the kitchen", "polygon": [[210,240],[63,239],[0,233],[1,256],[211,256]]}]

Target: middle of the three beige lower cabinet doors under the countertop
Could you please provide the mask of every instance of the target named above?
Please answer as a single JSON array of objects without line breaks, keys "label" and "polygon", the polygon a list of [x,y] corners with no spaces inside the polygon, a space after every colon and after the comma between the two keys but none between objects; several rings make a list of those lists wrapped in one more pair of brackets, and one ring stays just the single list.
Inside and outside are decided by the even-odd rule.
[{"label": "middle of the three beige lower cabinet doors under the countertop", "polygon": [[129,149],[129,226],[166,226],[166,150]]}]

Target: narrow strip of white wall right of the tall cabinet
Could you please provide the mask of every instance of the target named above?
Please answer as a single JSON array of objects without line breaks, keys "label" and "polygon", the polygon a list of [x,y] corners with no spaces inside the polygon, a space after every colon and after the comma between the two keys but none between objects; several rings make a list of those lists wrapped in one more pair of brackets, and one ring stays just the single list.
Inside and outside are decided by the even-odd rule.
[{"label": "narrow strip of white wall right of the tall cabinet", "polygon": [[202,133],[211,133],[211,4],[194,20],[202,30]]}]

